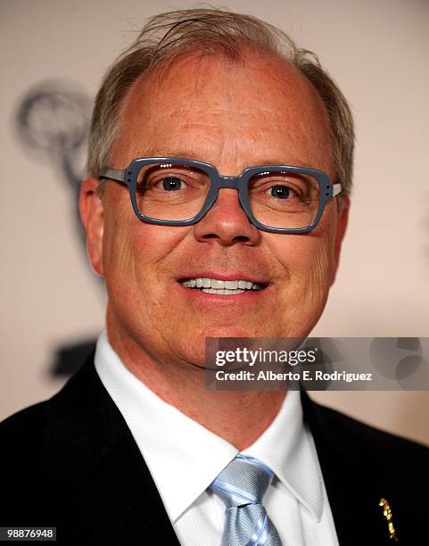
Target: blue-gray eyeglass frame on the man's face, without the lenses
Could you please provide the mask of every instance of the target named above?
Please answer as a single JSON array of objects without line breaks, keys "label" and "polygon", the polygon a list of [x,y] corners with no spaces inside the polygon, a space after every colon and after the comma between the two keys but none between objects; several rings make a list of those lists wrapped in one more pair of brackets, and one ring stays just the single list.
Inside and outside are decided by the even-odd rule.
[{"label": "blue-gray eyeglass frame on the man's face, without the lenses", "polygon": [[[207,194],[206,200],[202,205],[201,211],[191,219],[186,220],[161,220],[153,219],[149,216],[145,216],[138,208],[136,200],[136,181],[139,170],[144,166],[151,163],[175,163],[177,165],[186,165],[188,167],[194,167],[195,169],[203,170],[210,178],[210,188]],[[307,227],[270,227],[265,224],[261,224],[252,214],[251,204],[249,202],[248,183],[249,180],[266,170],[281,170],[283,172],[291,172],[297,174],[303,174],[315,178],[319,185],[320,201],[318,203],[318,212],[316,218]],[[137,158],[131,161],[127,169],[111,169],[105,167],[101,170],[99,179],[111,179],[115,182],[120,182],[128,186],[129,196],[133,205],[133,210],[136,213],[138,219],[154,224],[157,226],[192,226],[199,222],[218,198],[219,189],[232,188],[238,190],[238,200],[246,213],[247,218],[253,224],[262,231],[268,231],[269,233],[284,233],[284,234],[300,234],[308,233],[312,229],[318,226],[318,222],[322,218],[323,211],[325,211],[325,205],[329,199],[340,194],[342,191],[342,185],[340,183],[333,184],[330,178],[322,170],[309,169],[307,167],[294,167],[293,165],[261,165],[260,167],[249,167],[243,170],[242,174],[238,177],[224,177],[219,174],[216,167],[209,163],[203,163],[202,161],[188,160],[180,157],[149,157],[149,158]]]}]

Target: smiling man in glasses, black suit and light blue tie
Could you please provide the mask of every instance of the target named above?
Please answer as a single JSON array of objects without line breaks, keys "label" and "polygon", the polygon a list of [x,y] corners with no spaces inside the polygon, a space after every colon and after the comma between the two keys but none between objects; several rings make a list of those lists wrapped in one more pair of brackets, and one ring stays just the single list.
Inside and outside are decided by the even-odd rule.
[{"label": "smiling man in glasses, black suit and light blue tie", "polygon": [[305,393],[204,387],[206,337],[317,323],[352,149],[340,90],[278,29],[149,21],[97,96],[80,195],[106,331],[60,393],[4,421],[2,525],[73,544],[424,539],[424,447]]}]

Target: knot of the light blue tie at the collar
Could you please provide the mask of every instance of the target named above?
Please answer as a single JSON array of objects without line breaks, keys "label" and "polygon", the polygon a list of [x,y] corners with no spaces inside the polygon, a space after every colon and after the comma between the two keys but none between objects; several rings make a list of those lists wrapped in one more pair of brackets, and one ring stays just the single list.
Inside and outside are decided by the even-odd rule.
[{"label": "knot of the light blue tie at the collar", "polygon": [[260,504],[274,473],[252,457],[237,455],[210,485],[227,507]]}]

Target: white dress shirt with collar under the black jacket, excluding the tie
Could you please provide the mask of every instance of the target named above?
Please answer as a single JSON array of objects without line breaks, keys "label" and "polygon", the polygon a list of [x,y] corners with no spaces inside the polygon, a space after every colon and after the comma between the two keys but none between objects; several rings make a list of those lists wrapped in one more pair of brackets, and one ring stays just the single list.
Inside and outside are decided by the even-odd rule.
[{"label": "white dress shirt with collar under the black jacket, excluding the tie", "polygon": [[[137,379],[105,331],[97,341],[95,369],[144,457],[179,542],[219,546],[225,504],[207,488],[238,450]],[[242,453],[260,459],[276,475],[263,504],[284,546],[338,545],[299,392],[287,393],[271,425]]]}]

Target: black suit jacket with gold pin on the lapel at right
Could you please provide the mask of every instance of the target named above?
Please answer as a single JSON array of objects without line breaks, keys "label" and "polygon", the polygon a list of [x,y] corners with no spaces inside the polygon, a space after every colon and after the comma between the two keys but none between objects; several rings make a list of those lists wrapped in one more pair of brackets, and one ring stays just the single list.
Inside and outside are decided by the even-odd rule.
[{"label": "black suit jacket with gold pin on the lapel at right", "polygon": [[[319,406],[306,393],[302,403],[340,544],[395,543],[382,498],[402,546],[428,543],[429,450]],[[53,398],[4,420],[0,445],[0,526],[56,526],[61,544],[178,544],[93,357]]]}]

